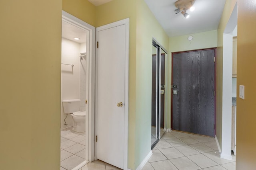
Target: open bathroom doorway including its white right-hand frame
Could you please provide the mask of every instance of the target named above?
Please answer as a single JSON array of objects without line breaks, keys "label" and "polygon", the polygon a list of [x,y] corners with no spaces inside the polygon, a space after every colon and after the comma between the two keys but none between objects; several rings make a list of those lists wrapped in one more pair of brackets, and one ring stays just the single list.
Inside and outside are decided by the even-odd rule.
[{"label": "open bathroom doorway including its white right-hand frame", "polygon": [[95,27],[62,11],[60,165],[68,170],[94,160],[94,36]]}]

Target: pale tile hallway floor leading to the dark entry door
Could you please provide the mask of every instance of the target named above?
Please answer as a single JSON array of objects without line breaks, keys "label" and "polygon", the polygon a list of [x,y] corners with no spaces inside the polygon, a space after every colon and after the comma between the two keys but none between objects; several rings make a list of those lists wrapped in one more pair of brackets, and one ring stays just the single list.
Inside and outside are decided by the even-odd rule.
[{"label": "pale tile hallway floor leading to the dark entry door", "polygon": [[213,137],[181,132],[165,133],[142,170],[235,170],[233,160],[222,159]]}]

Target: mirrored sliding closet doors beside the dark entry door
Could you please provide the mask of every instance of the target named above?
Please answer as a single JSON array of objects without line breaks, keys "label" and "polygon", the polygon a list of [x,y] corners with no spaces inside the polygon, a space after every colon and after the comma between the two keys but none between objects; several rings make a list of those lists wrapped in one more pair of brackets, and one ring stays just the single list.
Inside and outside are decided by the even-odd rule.
[{"label": "mirrored sliding closet doors beside the dark entry door", "polygon": [[167,128],[167,51],[155,40],[152,43],[152,107],[151,148],[164,135]]}]

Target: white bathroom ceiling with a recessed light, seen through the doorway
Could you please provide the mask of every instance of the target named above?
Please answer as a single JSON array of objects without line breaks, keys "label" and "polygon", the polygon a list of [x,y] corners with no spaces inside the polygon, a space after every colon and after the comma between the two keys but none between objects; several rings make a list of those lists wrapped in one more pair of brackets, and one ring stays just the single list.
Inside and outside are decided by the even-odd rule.
[{"label": "white bathroom ceiling with a recessed light, seen through the doorway", "polygon": [[[86,31],[74,25],[71,25],[65,21],[62,21],[62,37],[69,39],[71,41],[75,41],[77,43],[85,43]],[[78,37],[80,39],[75,40],[74,37]]]}]

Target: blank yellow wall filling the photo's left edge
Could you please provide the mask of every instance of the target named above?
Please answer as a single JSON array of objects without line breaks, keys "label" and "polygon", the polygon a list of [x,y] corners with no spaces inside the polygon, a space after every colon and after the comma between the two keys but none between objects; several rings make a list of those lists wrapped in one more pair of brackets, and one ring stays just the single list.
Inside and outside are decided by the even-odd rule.
[{"label": "blank yellow wall filling the photo's left edge", "polygon": [[60,169],[61,0],[0,1],[0,169]]}]

